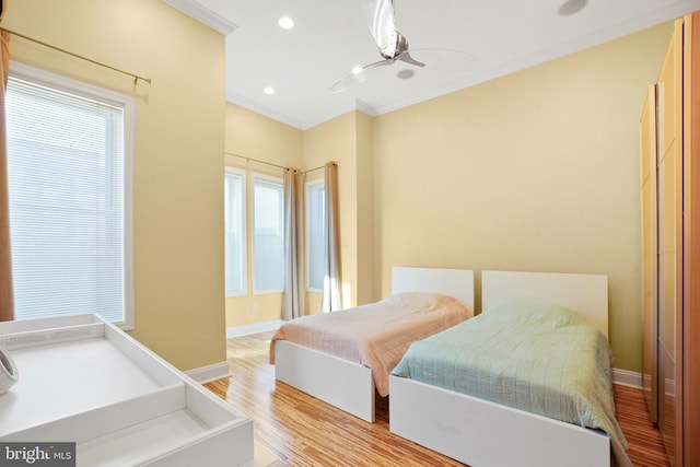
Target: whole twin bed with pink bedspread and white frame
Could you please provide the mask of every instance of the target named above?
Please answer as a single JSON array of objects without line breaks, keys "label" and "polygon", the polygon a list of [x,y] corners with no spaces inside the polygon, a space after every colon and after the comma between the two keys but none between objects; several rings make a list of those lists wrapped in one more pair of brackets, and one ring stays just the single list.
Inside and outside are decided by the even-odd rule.
[{"label": "whole twin bed with pink bedspread and white frame", "polygon": [[[346,339],[350,331],[349,326],[352,326],[351,322],[354,319],[350,313],[358,311],[358,308],[293,319],[280,327],[270,343],[270,362],[275,363],[275,377],[355,417],[373,422],[377,386],[381,389],[380,394],[386,395],[385,386],[388,385],[388,373],[398,363],[408,346],[413,340],[446,329],[472,315],[474,271],[393,268],[392,297],[404,297],[406,294],[417,292],[452,296],[463,305],[462,310],[454,302],[447,304],[452,308],[451,311],[434,310],[434,303],[430,303],[431,297],[418,297],[422,299],[423,303],[428,301],[429,310],[425,313],[420,313],[422,310],[413,307],[417,312],[411,313],[413,318],[410,319],[410,326],[407,327],[406,323],[401,322],[400,315],[397,317],[395,314],[395,305],[399,305],[398,303],[380,302],[381,305],[388,305],[388,311],[358,307],[363,313],[377,312],[376,316],[382,316],[382,314],[386,316],[383,327],[375,324],[374,330],[369,331],[370,343],[364,347],[370,347],[370,349],[360,350],[357,347],[352,348],[357,341],[347,342],[348,339]],[[413,297],[408,296],[407,299]],[[436,314],[442,317],[438,323],[432,319],[432,315]],[[325,326],[325,322],[328,320],[331,322],[331,329],[314,328],[315,324],[319,323],[319,326]],[[311,328],[311,330],[304,336],[299,330],[300,327]],[[397,329],[402,330],[402,334],[397,335]],[[322,331],[325,332],[322,339],[315,339]],[[295,338],[296,342],[288,338]],[[350,360],[348,352],[345,352],[345,358],[338,357],[346,349],[334,352],[334,349],[319,346],[322,343],[319,340],[345,341],[346,346],[342,347],[351,347],[350,351],[354,353],[353,360]],[[376,343],[377,340],[378,343]],[[375,369],[373,375],[373,371],[362,362],[362,354],[364,354],[364,360],[372,360],[366,354],[377,352],[373,350],[376,349],[375,343],[384,346],[381,353],[385,354],[390,351],[393,354],[389,361],[380,362],[380,365],[387,367],[381,372]],[[390,346],[390,349],[387,346]],[[398,355],[397,352],[399,352]]]}]

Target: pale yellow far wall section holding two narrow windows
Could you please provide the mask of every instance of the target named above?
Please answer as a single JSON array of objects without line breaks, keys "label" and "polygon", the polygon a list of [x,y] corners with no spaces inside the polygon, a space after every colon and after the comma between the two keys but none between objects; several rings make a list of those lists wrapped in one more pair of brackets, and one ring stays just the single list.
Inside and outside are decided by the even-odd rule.
[{"label": "pale yellow far wall section holding two narrow windows", "polygon": [[[249,177],[252,173],[280,178],[283,176],[281,168],[256,161],[264,161],[282,167],[302,168],[303,132],[300,129],[280,124],[234,104],[226,104],[225,128],[225,164],[246,170],[248,175],[246,199],[252,199],[252,180]],[[250,157],[250,160],[245,157]],[[253,225],[249,202],[246,211],[246,225],[249,231],[250,225]],[[248,235],[248,238],[250,238],[250,235]],[[252,258],[252,242],[247,242],[246,247],[248,258]],[[226,327],[280,319],[282,294],[254,294],[252,261],[248,261],[247,275],[248,293],[243,296],[225,299]]]}]

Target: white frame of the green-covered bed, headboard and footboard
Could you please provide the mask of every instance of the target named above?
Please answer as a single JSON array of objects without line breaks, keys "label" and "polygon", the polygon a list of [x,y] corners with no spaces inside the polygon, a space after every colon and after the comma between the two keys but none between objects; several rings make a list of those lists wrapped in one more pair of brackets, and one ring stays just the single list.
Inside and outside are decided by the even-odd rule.
[{"label": "white frame of the green-covered bed, headboard and footboard", "polygon": [[[482,310],[528,301],[563,305],[607,336],[607,276],[482,271]],[[389,376],[389,430],[471,467],[610,465],[598,430]]]}]

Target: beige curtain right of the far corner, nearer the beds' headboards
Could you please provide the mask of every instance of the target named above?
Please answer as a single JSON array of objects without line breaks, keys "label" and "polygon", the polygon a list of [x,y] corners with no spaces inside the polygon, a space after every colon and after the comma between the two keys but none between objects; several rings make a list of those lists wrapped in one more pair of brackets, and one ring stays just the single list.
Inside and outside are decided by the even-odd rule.
[{"label": "beige curtain right of the far corner, nearer the beds' headboards", "polygon": [[338,165],[325,165],[324,189],[326,190],[326,273],[320,302],[323,313],[342,310],[340,282],[340,231],[338,229]]}]

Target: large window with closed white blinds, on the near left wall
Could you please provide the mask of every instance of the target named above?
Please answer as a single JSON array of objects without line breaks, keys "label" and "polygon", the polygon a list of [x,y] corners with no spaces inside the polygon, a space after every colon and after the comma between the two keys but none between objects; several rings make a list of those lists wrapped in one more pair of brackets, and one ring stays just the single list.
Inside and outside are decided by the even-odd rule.
[{"label": "large window with closed white blinds, on the near left wall", "polygon": [[15,316],[132,327],[132,101],[12,63],[8,183]]}]

